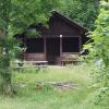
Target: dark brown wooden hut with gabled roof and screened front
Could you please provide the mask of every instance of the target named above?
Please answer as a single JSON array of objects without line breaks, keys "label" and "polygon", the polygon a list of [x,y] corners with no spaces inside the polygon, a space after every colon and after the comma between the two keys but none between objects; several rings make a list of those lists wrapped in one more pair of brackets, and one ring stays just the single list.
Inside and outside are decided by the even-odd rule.
[{"label": "dark brown wooden hut with gabled roof and screened front", "polygon": [[57,11],[52,12],[48,25],[49,27],[44,27],[41,24],[34,25],[41,37],[32,38],[23,35],[27,47],[24,60],[61,64],[68,57],[80,55],[83,44],[87,40],[86,28]]}]

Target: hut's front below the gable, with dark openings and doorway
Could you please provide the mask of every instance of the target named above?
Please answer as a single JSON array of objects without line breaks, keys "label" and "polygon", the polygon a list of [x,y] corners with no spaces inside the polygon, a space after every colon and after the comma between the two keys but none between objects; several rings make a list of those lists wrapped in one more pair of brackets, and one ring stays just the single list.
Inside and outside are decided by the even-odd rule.
[{"label": "hut's front below the gable, with dark openings and doorway", "polygon": [[64,55],[80,52],[80,37],[26,38],[25,60],[60,64]]}]

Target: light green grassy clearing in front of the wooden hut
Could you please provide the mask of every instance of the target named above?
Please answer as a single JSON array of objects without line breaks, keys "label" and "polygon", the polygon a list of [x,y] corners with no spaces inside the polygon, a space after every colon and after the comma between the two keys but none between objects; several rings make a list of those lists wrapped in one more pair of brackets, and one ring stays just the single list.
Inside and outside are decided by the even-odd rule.
[{"label": "light green grassy clearing in front of the wooden hut", "polygon": [[[94,104],[97,89],[88,88],[93,81],[90,66],[86,64],[14,72],[17,94],[13,97],[0,96],[0,109],[109,109],[102,104]],[[72,82],[75,87],[56,88],[48,82]]]}]

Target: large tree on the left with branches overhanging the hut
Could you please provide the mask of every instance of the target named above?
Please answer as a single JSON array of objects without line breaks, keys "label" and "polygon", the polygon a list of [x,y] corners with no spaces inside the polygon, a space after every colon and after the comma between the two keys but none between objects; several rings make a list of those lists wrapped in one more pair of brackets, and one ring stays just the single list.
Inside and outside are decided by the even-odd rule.
[{"label": "large tree on the left with branches overhanging the hut", "polygon": [[2,78],[0,89],[4,94],[13,92],[10,62],[21,50],[13,36],[24,32],[33,23],[46,23],[58,0],[48,1],[0,0],[0,76]]}]

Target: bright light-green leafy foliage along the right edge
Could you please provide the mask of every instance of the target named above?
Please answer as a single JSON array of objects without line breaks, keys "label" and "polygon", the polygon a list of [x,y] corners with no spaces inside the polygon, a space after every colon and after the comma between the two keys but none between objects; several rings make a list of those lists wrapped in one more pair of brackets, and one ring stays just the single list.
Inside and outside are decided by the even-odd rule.
[{"label": "bright light-green leafy foliage along the right edge", "polygon": [[109,97],[109,2],[101,2],[101,10],[96,20],[96,29],[89,36],[93,43],[86,45],[89,58],[96,62],[99,98]]}]

